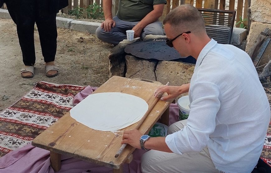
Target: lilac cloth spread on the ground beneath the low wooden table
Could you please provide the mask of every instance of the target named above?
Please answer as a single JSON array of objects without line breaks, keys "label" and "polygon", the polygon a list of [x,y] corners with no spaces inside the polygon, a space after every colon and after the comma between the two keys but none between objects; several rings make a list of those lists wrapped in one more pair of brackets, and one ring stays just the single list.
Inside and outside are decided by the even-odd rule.
[{"label": "lilac cloth spread on the ground beneath the low wooden table", "polygon": [[[73,103],[78,104],[96,88],[87,86],[86,89],[79,92]],[[170,104],[169,125],[178,121],[178,106]],[[135,149],[133,152],[134,159],[130,164],[124,164],[125,173],[141,173],[140,158],[145,153],[143,150]],[[54,173],[50,166],[50,151],[33,147],[30,144],[14,150],[0,158],[0,173]],[[59,173],[111,173],[112,168],[99,166],[87,161],[78,160],[69,156],[61,156],[61,169]]]}]

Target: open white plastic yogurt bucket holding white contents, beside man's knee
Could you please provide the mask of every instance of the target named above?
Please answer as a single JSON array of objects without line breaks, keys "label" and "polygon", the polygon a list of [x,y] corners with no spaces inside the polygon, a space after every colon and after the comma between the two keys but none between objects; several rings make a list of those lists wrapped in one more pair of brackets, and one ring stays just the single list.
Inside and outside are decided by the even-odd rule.
[{"label": "open white plastic yogurt bucket holding white contents, beside man's knee", "polygon": [[190,101],[189,96],[183,96],[180,99],[178,99],[177,105],[179,107],[179,121],[184,120],[188,118],[189,112],[190,112]]}]

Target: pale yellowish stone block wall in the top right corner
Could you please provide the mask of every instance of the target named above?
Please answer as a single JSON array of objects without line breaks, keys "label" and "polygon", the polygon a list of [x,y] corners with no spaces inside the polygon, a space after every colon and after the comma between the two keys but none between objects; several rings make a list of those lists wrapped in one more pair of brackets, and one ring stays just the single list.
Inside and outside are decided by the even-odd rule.
[{"label": "pale yellowish stone block wall in the top right corner", "polygon": [[247,39],[246,52],[249,52],[258,35],[265,28],[271,29],[271,0],[251,0],[250,18],[252,22]]}]

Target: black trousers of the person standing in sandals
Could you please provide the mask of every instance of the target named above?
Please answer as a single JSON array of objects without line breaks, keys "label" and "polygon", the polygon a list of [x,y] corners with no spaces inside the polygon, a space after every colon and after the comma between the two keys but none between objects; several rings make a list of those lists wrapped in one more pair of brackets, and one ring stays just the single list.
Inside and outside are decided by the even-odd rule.
[{"label": "black trousers of the person standing in sandals", "polygon": [[56,13],[49,12],[47,0],[7,0],[7,9],[17,25],[17,34],[25,65],[35,64],[34,25],[36,22],[42,55],[45,62],[55,60]]}]

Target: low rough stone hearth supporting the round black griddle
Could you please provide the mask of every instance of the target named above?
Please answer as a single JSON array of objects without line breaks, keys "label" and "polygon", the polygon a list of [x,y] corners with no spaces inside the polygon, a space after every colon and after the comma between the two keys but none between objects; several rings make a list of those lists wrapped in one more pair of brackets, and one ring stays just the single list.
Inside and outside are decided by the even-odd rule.
[{"label": "low rough stone hearth supporting the round black griddle", "polygon": [[[144,41],[166,39],[166,36],[147,35]],[[142,59],[133,55],[126,55],[124,49],[127,45],[140,41],[121,41],[109,55],[109,73],[126,78],[141,78],[158,81],[162,84],[179,86],[190,82],[194,72],[194,64],[176,61],[159,61],[155,59]]]}]

